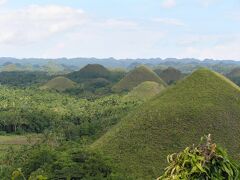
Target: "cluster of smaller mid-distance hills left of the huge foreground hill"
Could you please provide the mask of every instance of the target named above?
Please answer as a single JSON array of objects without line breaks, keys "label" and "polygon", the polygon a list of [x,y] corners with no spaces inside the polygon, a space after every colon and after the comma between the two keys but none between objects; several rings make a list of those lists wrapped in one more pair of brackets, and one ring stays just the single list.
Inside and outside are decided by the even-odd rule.
[{"label": "cluster of smaller mid-distance hills left of the huge foreground hill", "polygon": [[[171,73],[168,74],[171,76]],[[171,78],[171,77],[170,77]],[[139,66],[128,73],[108,70],[102,65],[89,64],[79,71],[57,76],[41,86],[42,90],[108,90],[111,93],[129,92],[126,97],[148,99],[167,86],[160,76],[146,66]],[[82,91],[80,91],[82,92]]]}]

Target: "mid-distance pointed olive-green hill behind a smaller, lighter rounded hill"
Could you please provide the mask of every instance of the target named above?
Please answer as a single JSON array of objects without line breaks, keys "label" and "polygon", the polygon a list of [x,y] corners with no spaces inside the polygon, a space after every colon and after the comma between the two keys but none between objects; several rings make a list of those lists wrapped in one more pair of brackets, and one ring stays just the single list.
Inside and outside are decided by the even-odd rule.
[{"label": "mid-distance pointed olive-green hill behind a smaller, lighter rounded hill", "polygon": [[154,81],[162,85],[166,85],[163,80],[151,69],[146,66],[139,66],[130,71],[123,79],[113,86],[113,91],[131,91],[134,87],[144,81]]}]

